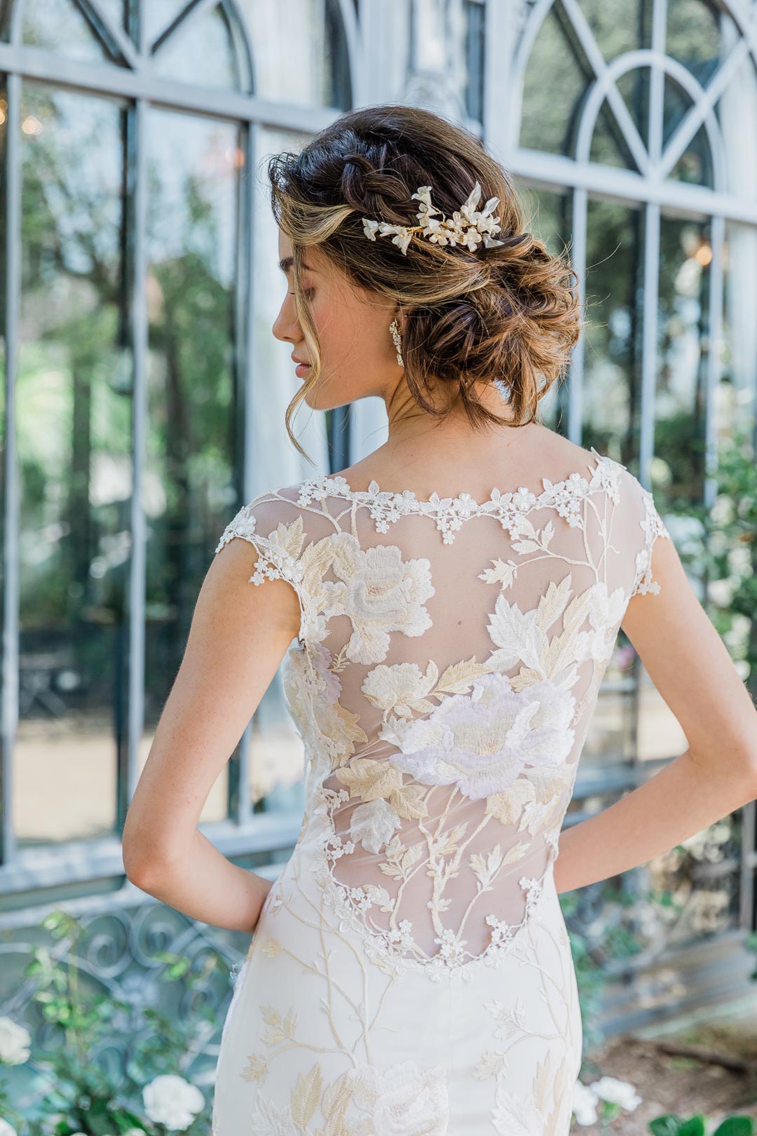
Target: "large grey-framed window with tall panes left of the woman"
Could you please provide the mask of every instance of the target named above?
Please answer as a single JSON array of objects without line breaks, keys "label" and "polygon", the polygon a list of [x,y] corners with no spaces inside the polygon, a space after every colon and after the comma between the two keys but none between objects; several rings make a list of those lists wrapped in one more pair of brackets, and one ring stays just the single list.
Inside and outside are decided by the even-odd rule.
[{"label": "large grey-framed window with tall panes left of the woman", "polygon": [[[45,885],[81,838],[120,870],[218,536],[312,470],[281,444],[297,381],[254,174],[351,106],[355,24],[348,0],[0,6],[0,888],[50,842]],[[295,425],[325,468],[321,416]],[[275,684],[201,818],[221,849],[253,811],[294,842],[301,747]]]}]

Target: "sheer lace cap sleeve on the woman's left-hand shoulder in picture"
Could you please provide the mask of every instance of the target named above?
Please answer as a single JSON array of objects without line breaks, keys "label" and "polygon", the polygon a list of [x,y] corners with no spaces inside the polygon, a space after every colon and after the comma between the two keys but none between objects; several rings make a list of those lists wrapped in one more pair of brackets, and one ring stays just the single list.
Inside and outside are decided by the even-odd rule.
[{"label": "sheer lace cap sleeve on the woman's left-hand shoulder in picture", "polygon": [[251,584],[263,584],[267,579],[284,579],[292,585],[300,601],[301,642],[305,637],[306,595],[304,587],[304,563],[302,560],[305,533],[302,510],[287,495],[288,490],[261,493],[242,506],[224,529],[216,554],[235,536],[251,544],[258,553]]}]

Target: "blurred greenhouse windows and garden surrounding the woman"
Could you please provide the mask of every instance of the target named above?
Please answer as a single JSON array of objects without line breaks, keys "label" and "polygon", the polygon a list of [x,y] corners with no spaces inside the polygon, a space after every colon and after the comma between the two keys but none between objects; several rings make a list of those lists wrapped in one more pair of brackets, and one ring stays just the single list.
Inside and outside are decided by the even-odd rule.
[{"label": "blurred greenhouse windows and garden surrounding the woman", "polygon": [[[757,695],[756,68],[752,0],[0,0],[0,1136],[209,1130],[247,943],[136,888],[120,833],[220,533],[314,471],[263,170],[343,111],[464,123],[569,249],[542,418],[653,490]],[[386,414],[294,428],[330,473]],[[621,633],[565,824],[685,745]],[[302,757],[277,676],[202,815],[270,878]],[[581,1131],[757,1116],[756,871],[752,803],[562,897]]]}]

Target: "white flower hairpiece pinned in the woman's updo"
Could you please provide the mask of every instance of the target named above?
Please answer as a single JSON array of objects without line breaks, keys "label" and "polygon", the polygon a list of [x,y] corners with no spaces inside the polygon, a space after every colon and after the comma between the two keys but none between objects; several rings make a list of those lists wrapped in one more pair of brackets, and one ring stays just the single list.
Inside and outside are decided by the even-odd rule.
[{"label": "white flower hairpiece pinned in the woman's updo", "polygon": [[499,204],[499,198],[489,198],[480,212],[476,210],[481,200],[481,186],[478,182],[460,209],[456,209],[449,218],[443,215],[443,220],[432,217],[432,214],[438,214],[439,210],[431,204],[430,185],[419,185],[411,200],[413,199],[421,202],[421,207],[415,214],[420,225],[410,227],[390,225],[386,220],[371,220],[370,217],[363,217],[363,231],[368,240],[375,241],[377,233],[380,236],[394,233],[392,243],[402,249],[403,256],[407,254],[407,245],[414,233],[420,233],[421,236],[428,237],[436,244],[464,244],[471,252],[474,252],[481,243],[483,243],[485,249],[493,249],[497,244],[505,243],[496,241],[491,235],[502,228],[499,224],[502,217],[491,216],[493,210]]}]

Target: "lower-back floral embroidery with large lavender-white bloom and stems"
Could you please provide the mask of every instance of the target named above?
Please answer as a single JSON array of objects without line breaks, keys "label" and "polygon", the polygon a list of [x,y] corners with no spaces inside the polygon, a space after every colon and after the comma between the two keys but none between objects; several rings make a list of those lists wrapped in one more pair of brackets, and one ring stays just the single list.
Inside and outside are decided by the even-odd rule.
[{"label": "lower-back floral embroidery with large lavender-white bloom and stems", "polygon": [[[569,784],[564,776],[564,762],[574,741],[571,727],[574,707],[575,699],[550,682],[531,683],[522,691],[515,691],[504,675],[482,675],[472,683],[470,694],[449,695],[427,718],[410,719],[404,727],[399,722],[394,724],[393,741],[399,752],[392,755],[388,769],[384,762],[358,758],[348,767],[336,769],[337,779],[348,790],[334,792],[321,787],[321,803],[329,817],[340,805],[346,805],[352,794],[363,801],[352,812],[348,841],[336,834],[333,819],[323,826],[323,844],[313,870],[325,888],[327,905],[335,908],[339,919],[365,933],[365,952],[382,969],[402,974],[419,967],[430,978],[439,978],[446,970],[457,969],[464,978],[470,978],[476,969],[471,963],[477,959],[487,966],[496,966],[510,953],[516,932],[525,926],[537,908],[541,894],[540,880],[527,876],[520,879],[520,886],[527,892],[521,924],[507,925],[491,912],[478,917],[491,928],[490,942],[479,955],[465,950],[466,941],[461,930],[455,932],[443,925],[441,912],[448,903],[444,899],[446,882],[451,876],[457,876],[459,866],[464,863],[471,871],[471,882],[476,884],[478,894],[491,891],[497,875],[524,854],[525,833],[533,836],[544,830],[545,824],[554,820]],[[481,747],[482,735],[499,741],[489,751],[486,744]],[[403,785],[403,772],[411,775],[410,785]],[[377,779],[380,779],[380,785],[377,785]],[[513,790],[515,782],[519,785]],[[409,812],[410,786],[431,788],[422,797],[418,794],[413,796],[412,811]],[[470,852],[468,860],[463,861],[463,835],[468,821],[452,826],[441,835],[438,830],[434,834],[427,832],[422,820],[418,821],[426,836],[427,875],[434,879],[432,897],[427,907],[437,929],[435,943],[439,945],[437,954],[424,959],[414,943],[411,920],[396,920],[393,912],[388,928],[368,925],[368,912],[373,903],[382,911],[396,910],[395,905],[398,905],[386,887],[347,887],[334,880],[330,863],[353,853],[360,843],[368,852],[382,852],[388,857],[384,870],[397,879],[407,878],[403,866],[409,857],[414,858],[417,870],[421,868],[424,862],[419,859],[421,845],[414,844],[405,850],[399,837],[394,836],[394,830],[401,825],[403,816],[422,818],[431,813],[429,799],[432,786],[452,787],[452,793],[446,795],[444,811],[438,805],[436,816],[444,816],[456,795],[470,801],[480,800],[482,817],[477,830],[498,821],[506,826],[507,832],[519,811],[514,808],[516,797],[522,836],[506,852],[499,843],[494,843],[486,853]],[[554,858],[554,842],[550,842],[549,849],[550,858]],[[446,853],[451,854],[449,860]],[[412,862],[410,867],[413,867]]]}]

